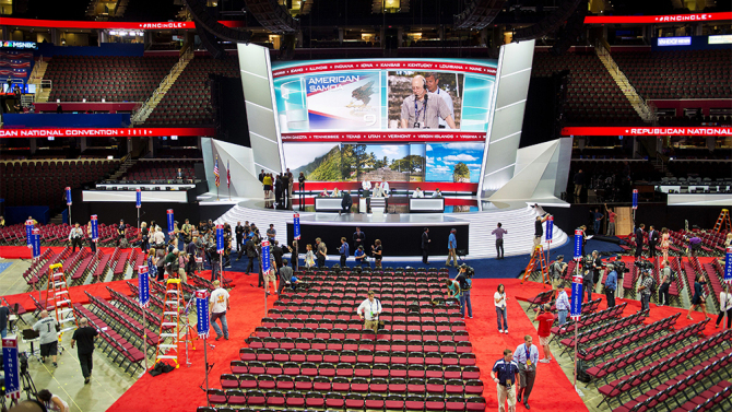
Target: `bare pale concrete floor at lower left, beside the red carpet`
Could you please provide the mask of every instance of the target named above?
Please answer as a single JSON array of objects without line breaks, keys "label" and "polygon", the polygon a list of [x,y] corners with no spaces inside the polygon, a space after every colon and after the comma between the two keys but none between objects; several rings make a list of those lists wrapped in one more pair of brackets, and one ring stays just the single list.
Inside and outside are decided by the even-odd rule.
[{"label": "bare pale concrete floor at lower left, beside the red carpet", "polygon": [[[31,263],[23,260],[0,260],[0,262],[12,263],[0,272],[0,294],[12,295],[27,292],[22,273]],[[37,320],[32,314],[24,315],[24,319],[31,326]],[[29,326],[20,322],[20,329],[26,328]],[[64,350],[58,356],[58,367],[54,367],[50,358],[45,364],[35,357],[29,358],[28,372],[36,390],[50,390],[69,403],[71,412],[105,411],[134,384],[137,376],[132,377],[129,373],[125,373],[97,349],[94,351],[92,381],[84,385],[76,350],[71,350],[71,336],[72,333],[67,332],[61,337],[59,351],[61,348]],[[29,345],[22,339],[19,340],[19,344],[21,351],[29,351]],[[37,344],[35,349],[38,349]],[[149,358],[149,362],[152,360]],[[22,393],[21,398],[25,399],[26,395]]]}]

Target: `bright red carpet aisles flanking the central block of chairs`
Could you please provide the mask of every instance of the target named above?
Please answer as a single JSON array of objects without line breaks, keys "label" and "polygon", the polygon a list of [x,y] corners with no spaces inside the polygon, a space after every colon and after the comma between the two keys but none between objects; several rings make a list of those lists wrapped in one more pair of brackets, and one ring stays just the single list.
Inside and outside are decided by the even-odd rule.
[{"label": "bright red carpet aisles flanking the central block of chairs", "polygon": [[[252,274],[251,279],[256,281],[253,276]],[[213,388],[221,388],[219,376],[229,372],[229,362],[238,358],[239,348],[246,346],[244,339],[261,325],[261,318],[264,316],[262,290],[250,287],[246,282],[240,283],[241,285],[232,292],[232,310],[227,316],[231,340],[213,342],[216,348],[209,351],[209,363],[214,364],[209,376],[209,385]],[[489,375],[493,364],[503,355],[504,349],[515,350],[521,344],[524,334],[536,336],[536,329],[515,299],[508,302],[510,334],[498,333],[492,298],[499,283],[507,285],[509,296],[519,287],[517,280],[481,279],[473,281],[471,297],[474,319],[467,320],[482,379],[486,382],[484,397],[487,401],[487,410],[497,408],[495,385],[491,384]],[[273,301],[270,301],[269,307],[272,306]],[[192,351],[190,356],[192,363],[190,368],[184,364],[179,369],[155,378],[145,374],[108,411],[145,410],[152,399],[156,401],[156,410],[161,412],[192,411],[196,407],[205,405],[205,393],[199,388],[204,378],[202,346],[197,344],[197,350]],[[557,393],[563,393],[563,396],[557,397]],[[542,364],[539,368],[536,385],[531,395],[531,407],[546,412],[587,410],[571,382],[556,363]]]}]

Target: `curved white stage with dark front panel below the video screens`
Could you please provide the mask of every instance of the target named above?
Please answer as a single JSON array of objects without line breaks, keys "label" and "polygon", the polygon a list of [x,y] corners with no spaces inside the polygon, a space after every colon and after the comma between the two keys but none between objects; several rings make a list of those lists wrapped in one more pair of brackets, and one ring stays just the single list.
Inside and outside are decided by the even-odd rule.
[{"label": "curved white stage with dark front panel below the video screens", "polygon": [[[337,257],[340,238],[345,237],[351,245],[351,256],[354,248],[352,245],[353,233],[358,226],[366,233],[366,245],[370,245],[377,238],[382,242],[383,260],[421,260],[421,235],[425,227],[429,228],[432,239],[429,247],[430,258],[436,260],[447,257],[447,242],[451,228],[456,228],[458,237],[458,250],[464,249],[471,258],[495,258],[495,235],[493,229],[500,222],[503,228],[508,231],[504,235],[504,248],[506,256],[518,256],[530,254],[533,247],[534,221],[538,212],[531,205],[538,203],[540,207],[568,208],[569,204],[552,198],[535,199],[512,202],[489,202],[476,197],[446,198],[446,204],[451,199],[460,201],[470,200],[476,208],[465,208],[464,212],[451,213],[387,213],[375,215],[373,213],[341,214],[332,212],[299,211],[296,205],[293,210],[270,209],[271,202],[264,199],[222,198],[216,201],[215,192],[199,196],[201,215],[212,215],[210,212],[221,213],[213,217],[216,223],[228,223],[236,226],[237,222],[256,223],[260,231],[269,228],[274,224],[278,231],[276,239],[285,240],[292,245],[292,225],[294,213],[300,215],[302,239],[298,246],[300,254],[305,252],[305,245],[315,245],[315,238],[320,237],[328,245],[328,255]],[[210,212],[206,211],[210,209]],[[307,209],[306,209],[307,210]],[[544,224],[546,226],[546,224]],[[546,231],[545,231],[546,232]],[[557,248],[567,242],[567,235],[560,228],[554,227],[554,236],[551,247]],[[545,238],[542,239],[544,249],[548,247]],[[367,250],[369,251],[369,250]]]}]

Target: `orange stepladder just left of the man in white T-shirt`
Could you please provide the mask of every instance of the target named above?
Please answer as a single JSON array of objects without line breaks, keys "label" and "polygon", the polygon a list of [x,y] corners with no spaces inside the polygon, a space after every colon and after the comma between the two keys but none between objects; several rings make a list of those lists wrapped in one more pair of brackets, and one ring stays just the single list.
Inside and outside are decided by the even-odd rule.
[{"label": "orange stepladder just left of the man in white T-shirt", "polygon": [[165,283],[165,307],[161,317],[161,341],[155,353],[155,363],[162,360],[173,360],[176,369],[180,367],[178,355],[180,349],[180,311],[185,308],[180,279],[168,279]]}]

